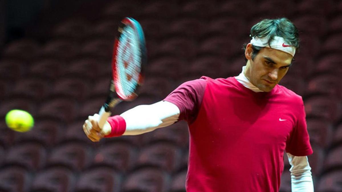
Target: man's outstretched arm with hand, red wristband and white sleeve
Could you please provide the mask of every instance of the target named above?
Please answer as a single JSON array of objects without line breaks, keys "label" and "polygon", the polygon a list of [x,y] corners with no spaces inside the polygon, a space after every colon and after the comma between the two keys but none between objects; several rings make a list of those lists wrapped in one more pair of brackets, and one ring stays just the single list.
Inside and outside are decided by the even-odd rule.
[{"label": "man's outstretched arm with hand, red wristband and white sleeve", "polygon": [[[98,114],[89,116],[83,124],[83,131],[92,141],[113,135],[112,132],[123,132],[120,135],[139,135],[166,127],[177,122],[179,108],[168,101],[159,101],[151,105],[139,105],[119,116],[109,117],[103,128],[98,127]],[[117,123],[116,123],[117,122]]]}]

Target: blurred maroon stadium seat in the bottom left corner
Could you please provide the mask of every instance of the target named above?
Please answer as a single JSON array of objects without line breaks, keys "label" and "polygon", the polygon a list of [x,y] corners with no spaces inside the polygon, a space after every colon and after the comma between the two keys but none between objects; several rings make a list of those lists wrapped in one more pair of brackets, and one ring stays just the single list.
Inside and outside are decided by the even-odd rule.
[{"label": "blurred maroon stadium seat in the bottom left corner", "polygon": [[18,166],[2,167],[0,178],[0,190],[4,192],[29,191],[32,181],[32,176],[23,167]]}]

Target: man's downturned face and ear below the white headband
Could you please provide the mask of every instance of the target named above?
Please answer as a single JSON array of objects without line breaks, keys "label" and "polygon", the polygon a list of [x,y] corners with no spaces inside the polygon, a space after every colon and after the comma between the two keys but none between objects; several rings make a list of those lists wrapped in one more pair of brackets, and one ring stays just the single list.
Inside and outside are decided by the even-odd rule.
[{"label": "man's downturned face and ear below the white headband", "polygon": [[264,47],[252,60],[251,51],[251,44],[248,44],[245,52],[248,59],[245,76],[261,91],[269,92],[285,76],[293,57],[283,51]]}]

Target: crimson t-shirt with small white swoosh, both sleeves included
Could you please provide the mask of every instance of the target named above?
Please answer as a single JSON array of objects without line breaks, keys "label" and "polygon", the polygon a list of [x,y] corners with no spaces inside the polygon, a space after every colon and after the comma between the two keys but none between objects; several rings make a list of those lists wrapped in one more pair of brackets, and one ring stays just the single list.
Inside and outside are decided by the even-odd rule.
[{"label": "crimson t-shirt with small white swoosh, both sleeves included", "polygon": [[281,85],[255,93],[234,77],[202,77],[164,100],[189,124],[187,192],[279,191],[284,151],[313,152],[303,100]]}]

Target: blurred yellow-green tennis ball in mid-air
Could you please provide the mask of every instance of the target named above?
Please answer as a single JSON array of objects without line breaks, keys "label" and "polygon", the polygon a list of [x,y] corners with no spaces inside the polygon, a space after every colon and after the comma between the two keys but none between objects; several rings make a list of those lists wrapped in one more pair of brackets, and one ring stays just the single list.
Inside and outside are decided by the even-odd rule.
[{"label": "blurred yellow-green tennis ball in mid-air", "polygon": [[9,128],[17,132],[30,131],[34,125],[32,115],[26,111],[14,109],[5,116],[6,124]]}]

